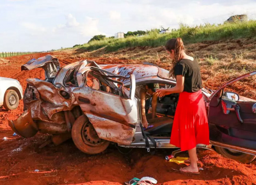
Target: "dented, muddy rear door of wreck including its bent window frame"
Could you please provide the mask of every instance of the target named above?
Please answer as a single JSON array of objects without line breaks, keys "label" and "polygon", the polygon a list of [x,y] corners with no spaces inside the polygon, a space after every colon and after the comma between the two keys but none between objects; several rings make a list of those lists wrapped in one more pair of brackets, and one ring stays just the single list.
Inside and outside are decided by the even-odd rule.
[{"label": "dented, muddy rear door of wreck including its bent window frame", "polygon": [[[86,82],[88,79],[86,76],[90,73],[93,73],[93,80],[91,79],[89,84]],[[81,110],[95,128],[97,135],[104,140],[118,144],[131,144],[138,123],[137,100],[134,97],[136,85],[134,75],[130,77],[130,91],[123,89],[122,82],[111,79],[122,78],[122,76],[108,71],[88,67],[84,68],[83,72],[80,71],[79,75],[80,77],[77,78],[83,78],[85,82],[79,81],[79,88],[74,89],[72,93]],[[102,89],[101,84],[107,85]],[[106,89],[111,89],[111,91]],[[114,93],[114,90],[119,91],[118,89],[122,89],[120,91],[124,94]]]}]

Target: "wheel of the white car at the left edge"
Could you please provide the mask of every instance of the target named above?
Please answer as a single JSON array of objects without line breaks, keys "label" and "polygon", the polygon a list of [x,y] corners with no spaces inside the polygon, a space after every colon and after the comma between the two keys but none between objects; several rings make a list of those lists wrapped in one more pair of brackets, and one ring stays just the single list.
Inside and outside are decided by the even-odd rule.
[{"label": "wheel of the white car at the left edge", "polygon": [[19,106],[19,95],[16,91],[9,89],[4,94],[4,108],[14,110]]}]

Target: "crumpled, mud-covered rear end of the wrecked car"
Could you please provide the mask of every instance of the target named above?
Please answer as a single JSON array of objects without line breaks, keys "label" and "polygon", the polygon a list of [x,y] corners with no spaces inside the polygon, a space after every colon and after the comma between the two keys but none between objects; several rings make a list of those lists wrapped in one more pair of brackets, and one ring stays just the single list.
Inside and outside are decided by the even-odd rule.
[{"label": "crumpled, mud-covered rear end of the wrecked car", "polygon": [[[65,133],[66,126],[64,111],[72,110],[76,106],[74,95],[65,87],[55,87],[50,82],[31,78],[28,84],[35,87],[36,98],[25,101],[28,110],[17,120],[9,121],[10,127],[22,137],[33,137],[37,131],[44,133]],[[65,91],[69,96],[61,96]],[[31,94],[28,94],[31,96]],[[25,96],[26,97],[26,96]],[[35,122],[34,122],[35,121]]]}]

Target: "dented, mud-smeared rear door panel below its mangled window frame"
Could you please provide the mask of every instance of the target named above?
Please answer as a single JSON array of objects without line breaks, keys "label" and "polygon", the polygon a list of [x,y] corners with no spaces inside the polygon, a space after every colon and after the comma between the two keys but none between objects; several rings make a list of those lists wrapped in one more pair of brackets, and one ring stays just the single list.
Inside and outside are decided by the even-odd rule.
[{"label": "dented, mud-smeared rear door panel below its mangled window frame", "polygon": [[[135,98],[121,98],[90,87],[77,88],[73,94],[84,114],[90,115],[89,120],[100,138],[120,144],[131,144],[138,122]],[[120,137],[124,141],[120,140]]]}]

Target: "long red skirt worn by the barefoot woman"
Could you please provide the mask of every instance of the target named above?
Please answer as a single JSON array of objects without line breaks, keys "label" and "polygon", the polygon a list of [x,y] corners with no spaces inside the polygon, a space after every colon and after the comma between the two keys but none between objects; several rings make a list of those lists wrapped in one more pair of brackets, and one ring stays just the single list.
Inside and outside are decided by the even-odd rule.
[{"label": "long red skirt worn by the barefoot woman", "polygon": [[202,91],[182,92],[175,111],[170,144],[181,151],[209,145],[209,126]]}]

